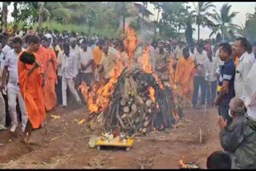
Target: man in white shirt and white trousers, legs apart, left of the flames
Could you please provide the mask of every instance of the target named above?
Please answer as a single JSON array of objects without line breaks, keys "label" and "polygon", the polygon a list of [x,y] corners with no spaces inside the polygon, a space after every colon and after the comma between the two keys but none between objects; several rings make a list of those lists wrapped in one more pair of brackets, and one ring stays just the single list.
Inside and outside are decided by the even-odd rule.
[{"label": "man in white shirt and white trousers, legs apart, left of the flames", "polygon": [[66,88],[67,85],[70,88],[70,92],[74,95],[76,98],[76,101],[78,101],[79,104],[81,104],[81,99],[78,96],[78,92],[76,89],[74,89],[74,79],[78,75],[78,68],[77,68],[77,62],[76,62],[76,54],[74,52],[70,51],[70,45],[65,44],[63,46],[64,53],[62,54],[62,60],[60,65],[62,65],[62,105],[66,106]]}]

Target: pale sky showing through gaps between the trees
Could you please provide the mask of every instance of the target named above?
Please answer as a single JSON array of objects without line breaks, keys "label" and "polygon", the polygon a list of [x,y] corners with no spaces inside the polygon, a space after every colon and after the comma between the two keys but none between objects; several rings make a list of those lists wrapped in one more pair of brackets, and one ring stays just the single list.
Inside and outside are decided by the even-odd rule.
[{"label": "pale sky showing through gaps between the trees", "polygon": [[[142,2],[141,2],[142,3]],[[188,2],[189,6],[194,8],[193,3],[197,2]],[[213,4],[216,6],[216,10],[219,11],[223,4],[229,3],[232,5],[231,11],[239,12],[238,15],[234,18],[233,23],[237,24],[239,26],[244,25],[246,22],[246,14],[254,13],[254,7],[256,6],[256,2],[213,2]],[[2,2],[0,2],[0,6],[2,7]],[[8,22],[12,22],[14,18],[11,17],[11,12],[14,10],[14,6],[8,6],[8,10],[10,11],[7,17]],[[154,10],[154,6],[150,3],[148,3],[148,10],[154,14],[153,18],[157,18],[158,11]],[[161,17],[161,14],[160,14]],[[193,33],[193,38],[198,38],[198,28],[197,26],[193,26],[195,31]],[[209,35],[211,33],[210,29],[208,28],[200,28],[200,37],[203,39],[209,38]]]}]

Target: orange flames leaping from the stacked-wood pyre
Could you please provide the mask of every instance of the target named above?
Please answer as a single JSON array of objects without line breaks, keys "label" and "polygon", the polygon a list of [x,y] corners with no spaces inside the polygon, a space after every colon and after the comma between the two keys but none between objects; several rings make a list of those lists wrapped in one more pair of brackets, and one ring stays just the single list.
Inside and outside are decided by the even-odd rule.
[{"label": "orange flames leaping from the stacked-wood pyre", "polygon": [[[136,47],[138,46],[138,38],[135,30],[133,30],[130,27],[126,27],[126,37],[124,38],[123,42],[130,61],[128,68],[130,68],[133,64],[132,58],[134,56],[134,50],[136,50]],[[118,77],[120,76],[120,74],[122,74],[122,70],[124,69],[124,65],[121,60],[122,59],[116,61],[114,69],[110,74],[110,81],[107,82],[106,85],[102,85],[102,87],[100,87],[99,89],[96,87],[96,85],[93,85],[91,90],[85,82],[82,82],[82,85],[79,86],[79,89],[81,89],[82,91],[83,97],[86,99],[86,103],[90,111],[90,114],[101,113],[102,111],[105,111],[105,109],[110,105],[110,98],[111,95],[114,93],[115,84],[118,82]],[[144,48],[142,56],[138,58],[138,63],[140,64],[141,69],[147,74],[152,74],[156,82],[158,83],[159,87],[161,89],[164,89],[162,82],[160,81],[158,76],[154,74],[152,64],[150,63],[150,46],[146,46]],[[174,80],[174,69],[172,67],[173,64],[174,63],[172,62],[170,64],[170,82]],[[174,84],[172,83],[170,85],[173,86]],[[155,89],[150,86],[148,90],[150,92],[151,101],[154,101],[155,103]],[[174,97],[174,100],[177,101],[176,96]],[[158,103],[156,105],[157,108],[159,109]],[[178,119],[178,113],[176,113],[176,111],[170,114],[172,114],[174,118]]]}]

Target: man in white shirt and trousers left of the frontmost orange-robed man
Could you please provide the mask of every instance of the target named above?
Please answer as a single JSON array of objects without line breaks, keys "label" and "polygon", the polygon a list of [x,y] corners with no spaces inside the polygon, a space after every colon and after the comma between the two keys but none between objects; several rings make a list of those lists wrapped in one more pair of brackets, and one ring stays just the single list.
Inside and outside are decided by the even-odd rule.
[{"label": "man in white shirt and trousers left of the frontmost orange-robed man", "polygon": [[18,126],[16,99],[18,97],[18,105],[22,112],[22,132],[25,131],[26,121],[28,119],[26,113],[26,105],[23,101],[22,94],[18,86],[18,54],[22,52],[22,39],[14,38],[14,50],[10,50],[6,54],[6,61],[4,70],[2,72],[2,87],[6,85],[6,77],[8,71],[8,84],[7,84],[7,97],[8,97],[8,110],[11,118],[11,132],[14,132]]}]

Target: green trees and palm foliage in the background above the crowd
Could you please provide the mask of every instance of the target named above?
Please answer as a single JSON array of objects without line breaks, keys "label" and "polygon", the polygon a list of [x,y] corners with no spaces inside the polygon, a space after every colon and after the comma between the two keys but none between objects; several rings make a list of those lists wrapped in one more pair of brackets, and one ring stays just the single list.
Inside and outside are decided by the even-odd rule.
[{"label": "green trees and palm foliage in the background above the crowd", "polygon": [[[154,9],[162,12],[162,18],[154,21],[154,26],[158,27],[159,34],[155,38],[178,38],[180,30],[186,30],[186,41],[190,44],[193,34],[193,24],[208,26],[213,30],[212,34],[218,34],[221,39],[232,40],[236,34],[232,18],[237,14],[230,11],[230,6],[225,4],[222,10],[211,13],[215,6],[211,2],[198,2],[194,10],[190,12],[190,7],[186,2],[150,2]],[[10,5],[10,2],[8,2]],[[143,3],[145,7],[147,2]],[[30,25],[37,28],[39,2],[14,2],[14,23],[18,28],[22,28],[27,20]],[[256,10],[255,10],[256,11]],[[103,34],[106,37],[117,38],[122,34],[122,18],[133,16],[132,2],[46,2],[43,11],[43,24],[53,30],[68,30],[74,32],[84,32],[86,34]],[[212,22],[214,18],[214,22]],[[256,13],[247,16],[246,28],[240,31],[247,37],[255,38],[256,35]],[[34,23],[36,23],[34,25]],[[137,20],[130,23],[135,30],[141,30]],[[232,31],[231,31],[232,30]],[[199,31],[199,30],[198,30]],[[199,36],[198,36],[199,38]]]}]

